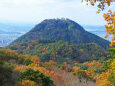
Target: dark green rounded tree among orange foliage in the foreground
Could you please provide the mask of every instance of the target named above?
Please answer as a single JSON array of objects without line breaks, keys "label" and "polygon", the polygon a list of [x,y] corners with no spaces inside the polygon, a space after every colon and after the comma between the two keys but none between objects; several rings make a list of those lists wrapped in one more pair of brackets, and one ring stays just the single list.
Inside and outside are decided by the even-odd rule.
[{"label": "dark green rounded tree among orange foliage in the foreground", "polygon": [[38,83],[40,86],[53,86],[53,81],[49,76],[45,76],[40,71],[34,71],[33,69],[27,69],[25,72],[21,73],[20,78],[22,80],[30,80]]}]

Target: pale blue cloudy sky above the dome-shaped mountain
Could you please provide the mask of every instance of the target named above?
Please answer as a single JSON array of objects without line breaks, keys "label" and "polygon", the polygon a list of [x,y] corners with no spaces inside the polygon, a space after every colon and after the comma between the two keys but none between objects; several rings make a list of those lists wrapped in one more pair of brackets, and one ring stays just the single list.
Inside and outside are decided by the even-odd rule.
[{"label": "pale blue cloudy sky above the dome-shaped mountain", "polygon": [[[115,11],[115,4],[108,9]],[[37,24],[44,19],[69,18],[81,25],[104,25],[106,11],[96,11],[97,7],[81,0],[0,0],[0,22]]]}]

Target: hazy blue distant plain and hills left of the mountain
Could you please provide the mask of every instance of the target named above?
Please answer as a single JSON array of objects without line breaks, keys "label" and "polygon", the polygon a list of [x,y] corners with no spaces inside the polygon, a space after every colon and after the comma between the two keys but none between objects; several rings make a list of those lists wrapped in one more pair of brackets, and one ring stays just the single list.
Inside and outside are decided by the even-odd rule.
[{"label": "hazy blue distant plain and hills left of the mountain", "polygon": [[34,25],[0,22],[0,47],[8,46],[15,39],[28,32],[32,26]]}]

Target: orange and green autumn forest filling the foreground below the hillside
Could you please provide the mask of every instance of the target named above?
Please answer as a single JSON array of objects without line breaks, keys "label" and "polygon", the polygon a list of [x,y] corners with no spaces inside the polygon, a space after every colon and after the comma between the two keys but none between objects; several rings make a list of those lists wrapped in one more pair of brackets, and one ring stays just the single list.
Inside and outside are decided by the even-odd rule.
[{"label": "orange and green autumn forest filling the foreground below the hillside", "polygon": [[[61,64],[42,62],[37,56],[0,50],[1,86],[114,86],[115,49],[108,49],[111,59]],[[68,82],[68,83],[67,83]]]}]

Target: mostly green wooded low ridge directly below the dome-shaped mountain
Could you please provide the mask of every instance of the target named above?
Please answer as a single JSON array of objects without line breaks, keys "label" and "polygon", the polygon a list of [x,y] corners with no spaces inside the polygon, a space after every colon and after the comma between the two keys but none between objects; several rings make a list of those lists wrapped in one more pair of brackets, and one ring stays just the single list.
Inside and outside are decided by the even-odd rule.
[{"label": "mostly green wooded low ridge directly below the dome-shaped mountain", "polygon": [[99,60],[100,57],[107,57],[108,54],[96,43],[76,45],[49,40],[15,43],[9,48],[20,54],[37,55],[43,62],[55,60],[58,63]]}]

